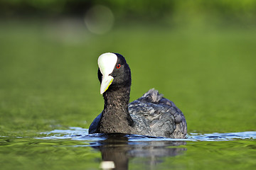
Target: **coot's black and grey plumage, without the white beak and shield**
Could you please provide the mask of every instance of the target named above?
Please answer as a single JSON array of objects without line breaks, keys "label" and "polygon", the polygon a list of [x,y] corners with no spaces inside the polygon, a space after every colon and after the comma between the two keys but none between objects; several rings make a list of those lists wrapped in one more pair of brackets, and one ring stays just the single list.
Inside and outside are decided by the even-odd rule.
[{"label": "coot's black and grey plumage, without the white beak and shield", "polygon": [[[93,120],[89,133],[118,132],[156,137],[186,137],[183,113],[158,91],[150,89],[141,98],[129,103],[131,71],[122,55],[114,55],[117,55],[117,67],[110,74],[114,79],[103,93],[104,109]],[[98,79],[102,84],[100,68]]]}]

